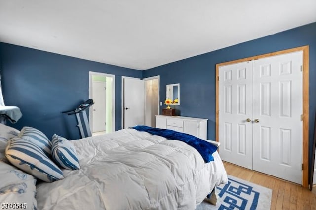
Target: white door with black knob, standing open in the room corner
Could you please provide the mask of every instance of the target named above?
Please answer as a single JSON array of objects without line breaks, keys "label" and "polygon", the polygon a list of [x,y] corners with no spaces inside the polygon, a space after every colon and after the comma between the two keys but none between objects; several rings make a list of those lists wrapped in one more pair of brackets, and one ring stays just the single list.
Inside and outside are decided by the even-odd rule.
[{"label": "white door with black knob, standing open in the room corner", "polygon": [[140,79],[123,79],[123,128],[145,124],[145,84]]}]

